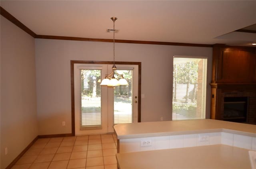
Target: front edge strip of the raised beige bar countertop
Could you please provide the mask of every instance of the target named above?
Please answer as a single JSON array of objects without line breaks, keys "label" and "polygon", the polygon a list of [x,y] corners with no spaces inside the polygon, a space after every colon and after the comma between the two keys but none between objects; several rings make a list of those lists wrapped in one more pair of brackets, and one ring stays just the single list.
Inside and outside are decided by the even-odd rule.
[{"label": "front edge strip of the raised beige bar countertop", "polygon": [[255,133],[249,132],[241,132],[237,130],[230,130],[224,128],[216,128],[216,129],[205,129],[205,130],[188,130],[188,131],[176,131],[176,132],[157,132],[157,133],[141,133],[141,134],[127,134],[127,135],[117,135],[119,140],[122,139],[132,139],[132,138],[147,138],[147,137],[161,137],[161,136],[175,136],[175,135],[183,135],[183,134],[202,134],[202,133],[215,133],[215,132],[226,132],[231,134],[238,134],[249,137],[256,137]]}]

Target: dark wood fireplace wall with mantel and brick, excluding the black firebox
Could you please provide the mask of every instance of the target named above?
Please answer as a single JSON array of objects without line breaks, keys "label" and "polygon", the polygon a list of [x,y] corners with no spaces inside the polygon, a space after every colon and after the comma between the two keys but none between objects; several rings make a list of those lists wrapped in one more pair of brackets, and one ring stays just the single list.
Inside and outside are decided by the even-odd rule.
[{"label": "dark wood fireplace wall with mantel and brick, excluding the black firebox", "polygon": [[[216,44],[212,60],[211,118],[224,120],[224,99],[248,98],[246,123],[256,124],[256,48]],[[240,122],[237,119],[237,122]]]}]

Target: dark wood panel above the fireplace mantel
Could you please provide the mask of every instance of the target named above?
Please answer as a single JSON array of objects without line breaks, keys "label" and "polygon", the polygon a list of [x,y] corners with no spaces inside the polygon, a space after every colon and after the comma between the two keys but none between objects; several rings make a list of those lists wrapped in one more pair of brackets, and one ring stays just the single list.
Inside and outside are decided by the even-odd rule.
[{"label": "dark wood panel above the fireplace mantel", "polygon": [[212,83],[256,83],[256,48],[214,45]]}]

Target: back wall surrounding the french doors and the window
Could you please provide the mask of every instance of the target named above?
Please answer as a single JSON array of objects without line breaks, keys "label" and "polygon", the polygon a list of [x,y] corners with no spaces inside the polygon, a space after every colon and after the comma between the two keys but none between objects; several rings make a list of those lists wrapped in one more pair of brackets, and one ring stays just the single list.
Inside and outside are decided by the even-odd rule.
[{"label": "back wall surrounding the french doors and the window", "polygon": [[[212,48],[116,43],[116,61],[142,62],[141,121],[171,119],[174,55],[206,56],[211,80]],[[113,44],[36,39],[39,134],[71,133],[70,60],[112,61]],[[152,79],[156,81],[152,81]],[[210,117],[210,85],[206,118]],[[62,126],[66,121],[66,126]]]}]

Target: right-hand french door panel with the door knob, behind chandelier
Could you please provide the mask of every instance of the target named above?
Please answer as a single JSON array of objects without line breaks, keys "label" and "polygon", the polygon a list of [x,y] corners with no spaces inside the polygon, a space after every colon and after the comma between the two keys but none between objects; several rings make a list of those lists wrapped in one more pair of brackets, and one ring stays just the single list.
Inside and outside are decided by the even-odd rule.
[{"label": "right-hand french door panel with the door knob, behind chandelier", "polygon": [[[108,87],[108,132],[114,132],[113,126],[121,123],[138,122],[138,65],[116,65],[119,74],[123,74],[128,86]],[[112,65],[108,65],[108,70]],[[106,86],[105,86],[106,87]]]}]

